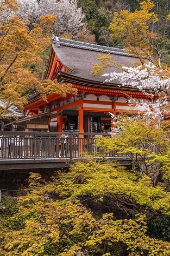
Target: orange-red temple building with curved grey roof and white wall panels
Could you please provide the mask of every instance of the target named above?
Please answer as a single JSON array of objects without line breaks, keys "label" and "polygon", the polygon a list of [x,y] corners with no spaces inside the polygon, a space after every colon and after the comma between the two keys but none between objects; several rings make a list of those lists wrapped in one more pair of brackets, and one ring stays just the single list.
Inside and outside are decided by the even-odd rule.
[{"label": "orange-red temple building with curved grey roof and white wall panels", "polygon": [[[123,66],[132,66],[138,59],[128,51],[74,40],[54,37],[44,79],[71,83],[77,95],[48,94],[45,102],[39,94],[28,99],[26,118],[15,121],[13,127],[25,131],[108,132],[113,128],[109,113],[138,113],[139,108],[128,104],[128,98],[144,99],[138,89],[120,87],[118,81],[104,83],[102,75],[92,75],[92,63],[98,54],[110,54]],[[107,67],[104,73],[121,72],[121,68]]]}]

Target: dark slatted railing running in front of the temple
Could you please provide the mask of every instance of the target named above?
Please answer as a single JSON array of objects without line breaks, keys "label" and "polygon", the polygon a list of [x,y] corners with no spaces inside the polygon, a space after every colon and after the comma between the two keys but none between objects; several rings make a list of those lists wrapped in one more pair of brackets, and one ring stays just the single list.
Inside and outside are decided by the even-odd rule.
[{"label": "dark slatted railing running in front of the temple", "polygon": [[[97,136],[110,135],[78,132],[1,132],[0,159],[81,158],[89,154],[108,158],[128,156],[115,149],[96,146]],[[150,150],[156,152],[157,148],[150,147]]]}]

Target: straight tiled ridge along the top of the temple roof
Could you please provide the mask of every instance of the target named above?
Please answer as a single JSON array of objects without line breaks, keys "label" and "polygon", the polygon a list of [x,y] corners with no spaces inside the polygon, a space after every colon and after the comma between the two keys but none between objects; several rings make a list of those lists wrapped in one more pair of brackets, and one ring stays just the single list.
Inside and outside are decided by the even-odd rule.
[{"label": "straight tiled ridge along the top of the temple roof", "polygon": [[119,49],[119,48],[102,46],[102,45],[95,45],[95,44],[90,44],[90,43],[85,43],[85,42],[80,42],[80,41],[75,41],[75,40],[69,40],[69,39],[65,39],[65,38],[61,38],[61,37],[58,37],[58,43],[60,45],[82,48],[82,49],[97,51],[97,52],[102,52],[102,53],[134,56],[134,54],[130,54],[129,51],[127,51],[125,49]]}]

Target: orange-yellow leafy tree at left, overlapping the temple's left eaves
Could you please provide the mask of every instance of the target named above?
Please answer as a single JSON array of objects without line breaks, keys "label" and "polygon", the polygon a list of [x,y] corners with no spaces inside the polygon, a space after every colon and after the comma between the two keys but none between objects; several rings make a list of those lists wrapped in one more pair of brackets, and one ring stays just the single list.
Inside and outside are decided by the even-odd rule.
[{"label": "orange-yellow leafy tree at left, overlapping the temple's left eaves", "polygon": [[[8,1],[2,2],[8,5]],[[0,117],[13,115],[12,106],[22,110],[27,103],[26,98],[32,93],[40,93],[45,101],[45,95],[50,92],[63,96],[76,94],[70,84],[61,85],[57,81],[42,83],[42,78],[29,70],[30,67],[42,67],[40,54],[50,45],[49,34],[56,19],[55,14],[47,14],[40,17],[40,24],[28,26],[27,20],[25,23],[14,16],[0,27]]]}]

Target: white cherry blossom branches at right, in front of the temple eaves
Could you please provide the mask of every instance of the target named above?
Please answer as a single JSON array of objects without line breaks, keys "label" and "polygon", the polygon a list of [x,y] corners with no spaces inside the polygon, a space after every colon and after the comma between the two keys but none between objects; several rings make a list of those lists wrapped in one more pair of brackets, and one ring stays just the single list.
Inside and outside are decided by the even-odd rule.
[{"label": "white cherry blossom branches at right, in front of the temple eaves", "polygon": [[164,112],[170,110],[168,100],[170,98],[170,69],[157,67],[151,62],[138,67],[122,67],[123,72],[103,74],[108,77],[105,82],[118,80],[120,87],[129,86],[137,88],[146,99],[135,100],[129,98],[130,105],[135,104],[145,116],[163,119]]}]

